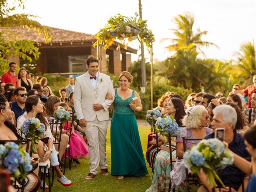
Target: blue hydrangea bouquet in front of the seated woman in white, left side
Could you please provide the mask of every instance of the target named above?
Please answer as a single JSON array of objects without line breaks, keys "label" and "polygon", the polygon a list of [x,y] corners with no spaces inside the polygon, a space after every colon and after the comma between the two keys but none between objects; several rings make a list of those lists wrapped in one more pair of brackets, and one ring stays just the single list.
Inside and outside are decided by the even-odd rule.
[{"label": "blue hydrangea bouquet in front of the seated woman in white, left side", "polygon": [[20,131],[27,139],[31,139],[31,151],[32,153],[37,154],[35,144],[38,144],[40,138],[45,135],[44,124],[42,124],[38,118],[29,118],[23,122]]}]

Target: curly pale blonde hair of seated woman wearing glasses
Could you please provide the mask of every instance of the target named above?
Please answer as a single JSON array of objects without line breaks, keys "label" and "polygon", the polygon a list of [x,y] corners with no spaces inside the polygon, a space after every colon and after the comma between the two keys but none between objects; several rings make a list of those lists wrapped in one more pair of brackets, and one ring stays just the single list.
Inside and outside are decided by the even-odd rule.
[{"label": "curly pale blonde hair of seated woman wearing glasses", "polygon": [[182,124],[189,128],[198,128],[201,126],[201,117],[204,112],[207,112],[206,108],[202,105],[192,107],[190,112],[182,119]]}]

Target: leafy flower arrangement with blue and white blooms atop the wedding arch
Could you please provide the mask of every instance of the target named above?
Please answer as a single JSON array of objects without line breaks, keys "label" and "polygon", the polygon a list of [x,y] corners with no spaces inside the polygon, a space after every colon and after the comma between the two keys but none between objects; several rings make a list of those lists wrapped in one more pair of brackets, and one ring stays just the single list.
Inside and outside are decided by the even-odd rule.
[{"label": "leafy flower arrangement with blue and white blooms atop the wedding arch", "polygon": [[[112,16],[105,28],[100,29],[95,37],[104,46],[105,50],[112,46],[116,39],[122,42],[125,49],[128,47],[128,42],[138,39],[140,43],[146,44],[148,51],[152,46],[152,42],[155,41],[154,34],[147,28],[146,20],[122,16],[121,14]],[[96,45],[97,42],[93,44],[93,46]],[[120,44],[117,47],[117,50],[119,49]]]}]

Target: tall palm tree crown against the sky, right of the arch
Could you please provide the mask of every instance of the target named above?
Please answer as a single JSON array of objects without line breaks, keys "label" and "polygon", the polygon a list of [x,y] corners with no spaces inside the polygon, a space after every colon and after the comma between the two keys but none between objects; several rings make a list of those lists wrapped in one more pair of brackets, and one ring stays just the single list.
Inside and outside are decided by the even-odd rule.
[{"label": "tall palm tree crown against the sky, right of the arch", "polygon": [[179,14],[178,16],[174,17],[174,20],[178,28],[170,30],[174,32],[174,35],[177,38],[164,38],[161,40],[171,40],[172,45],[166,47],[169,51],[176,51],[177,49],[192,45],[196,47],[198,52],[204,54],[202,47],[209,47],[212,45],[218,48],[218,46],[212,42],[202,41],[202,36],[206,35],[208,31],[201,32],[198,28],[196,33],[193,32],[192,28],[194,25],[194,15],[187,12],[184,15]]}]

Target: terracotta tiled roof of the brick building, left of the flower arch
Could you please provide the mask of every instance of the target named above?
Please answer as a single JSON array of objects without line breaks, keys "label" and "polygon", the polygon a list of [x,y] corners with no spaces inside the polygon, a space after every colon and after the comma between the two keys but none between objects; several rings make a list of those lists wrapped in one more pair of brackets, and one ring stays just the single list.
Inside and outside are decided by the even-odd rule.
[{"label": "terracotta tiled roof of the brick building, left of the flower arch", "polygon": [[[54,27],[49,27],[52,31],[52,43],[55,42],[84,42],[84,41],[95,41],[96,38],[94,38],[91,34],[81,33],[81,32],[75,32],[70,30],[64,30]],[[17,37],[17,39],[27,39],[32,40],[39,43],[44,43],[44,37],[39,36],[37,30],[30,29],[23,27],[13,27],[13,28],[6,28],[1,27],[0,31],[11,29],[13,32],[18,34],[20,37]],[[3,34],[4,35],[4,34]]]}]

